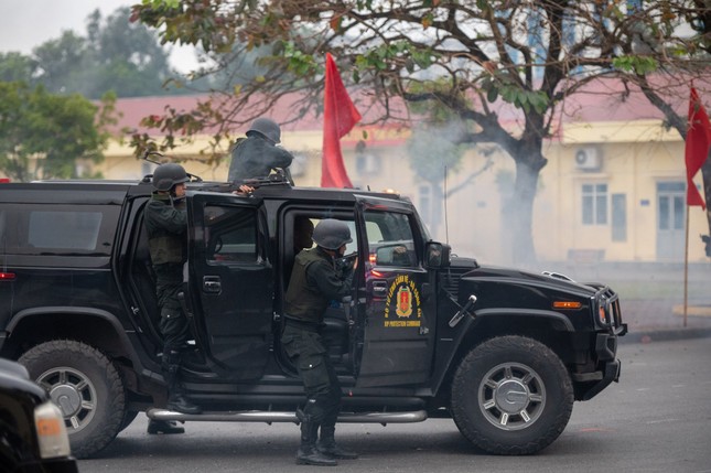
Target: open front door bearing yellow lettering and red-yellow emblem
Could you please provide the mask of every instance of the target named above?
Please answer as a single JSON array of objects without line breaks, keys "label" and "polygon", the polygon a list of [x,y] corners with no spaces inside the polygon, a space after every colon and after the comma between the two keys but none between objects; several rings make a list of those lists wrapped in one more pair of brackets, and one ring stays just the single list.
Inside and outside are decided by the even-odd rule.
[{"label": "open front door bearing yellow lettering and red-yellow emblem", "polygon": [[356,386],[423,383],[430,376],[437,304],[414,209],[405,202],[357,200],[365,304],[356,308],[363,331]]}]

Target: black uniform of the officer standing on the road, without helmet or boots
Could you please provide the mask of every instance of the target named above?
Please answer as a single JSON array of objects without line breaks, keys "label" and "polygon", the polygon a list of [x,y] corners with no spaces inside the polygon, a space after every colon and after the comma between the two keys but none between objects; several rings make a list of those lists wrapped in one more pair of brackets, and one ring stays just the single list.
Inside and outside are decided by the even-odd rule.
[{"label": "black uniform of the officer standing on the road, without helmet or boots", "polygon": [[[332,300],[351,293],[353,268],[336,269],[334,257],[316,247],[297,255],[286,298],[281,343],[299,369],[306,391],[302,416],[322,437],[333,439],[341,410],[341,385],[319,330]],[[302,419],[303,421],[304,419]]]}]

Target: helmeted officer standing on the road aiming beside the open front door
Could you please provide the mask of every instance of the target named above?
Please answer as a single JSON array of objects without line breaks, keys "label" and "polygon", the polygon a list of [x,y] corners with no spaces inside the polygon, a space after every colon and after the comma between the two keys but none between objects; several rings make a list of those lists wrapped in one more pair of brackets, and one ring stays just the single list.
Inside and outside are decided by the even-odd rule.
[{"label": "helmeted officer standing on the road aiming beside the open front door", "polygon": [[313,230],[313,241],[316,247],[299,252],[294,261],[281,343],[299,369],[306,393],[306,404],[297,412],[301,421],[297,463],[335,465],[336,459],[357,455],[340,448],[334,439],[341,385],[319,331],[330,301],[351,294],[357,260],[345,267],[337,265],[346,244],[353,241],[348,226],[341,221],[321,221]]}]

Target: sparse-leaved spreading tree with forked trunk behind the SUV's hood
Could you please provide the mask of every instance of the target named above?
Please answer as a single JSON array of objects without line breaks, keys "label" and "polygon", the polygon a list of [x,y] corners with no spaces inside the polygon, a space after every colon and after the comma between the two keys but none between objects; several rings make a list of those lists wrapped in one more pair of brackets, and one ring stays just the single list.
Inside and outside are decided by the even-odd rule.
[{"label": "sparse-leaved spreading tree with forked trunk behind the SUV's hood", "polygon": [[[665,103],[648,77],[698,72],[692,33],[679,26],[708,14],[699,1],[622,0],[152,0],[133,18],[172,43],[201,45],[215,68],[243,50],[271,46],[265,74],[225,84],[201,107],[147,121],[168,133],[229,130],[268,112],[289,95],[292,120],[319,110],[326,52],[357,84],[373,120],[403,120],[408,104],[437,101],[468,123],[459,143],[495,142],[516,164],[514,260],[535,259],[531,236],[543,141],[567,97],[592,80],[624,79]],[[645,89],[646,87],[646,89]],[[645,94],[647,94],[645,92]],[[669,115],[671,117],[671,115]],[[686,123],[672,122],[682,129]],[[147,136],[137,147],[153,146]]]}]

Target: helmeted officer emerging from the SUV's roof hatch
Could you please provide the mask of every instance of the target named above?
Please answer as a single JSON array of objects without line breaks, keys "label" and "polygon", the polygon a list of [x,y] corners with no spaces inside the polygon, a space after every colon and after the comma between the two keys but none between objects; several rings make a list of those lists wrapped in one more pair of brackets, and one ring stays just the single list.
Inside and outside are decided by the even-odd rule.
[{"label": "helmeted officer emerging from the SUV's roof hatch", "polygon": [[229,182],[239,185],[246,180],[266,178],[272,169],[281,169],[289,182],[293,184],[289,173],[293,155],[278,147],[279,142],[281,142],[279,125],[269,118],[257,118],[247,130],[247,138],[238,140],[233,147]]}]

